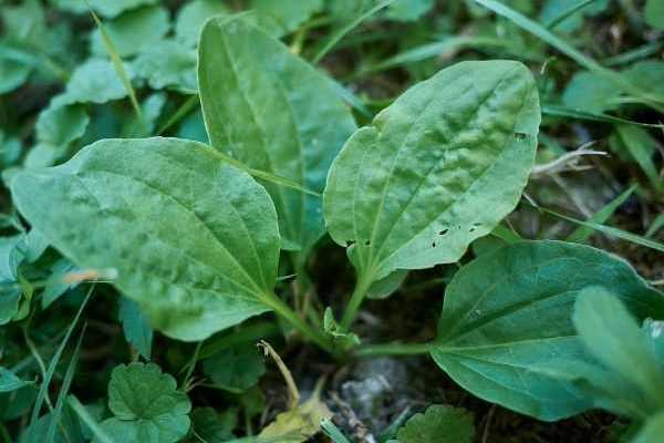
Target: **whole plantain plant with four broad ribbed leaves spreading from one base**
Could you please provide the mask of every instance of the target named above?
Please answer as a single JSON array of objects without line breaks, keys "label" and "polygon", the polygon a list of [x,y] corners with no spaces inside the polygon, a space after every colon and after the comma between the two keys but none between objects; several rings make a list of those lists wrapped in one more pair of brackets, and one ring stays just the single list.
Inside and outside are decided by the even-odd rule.
[{"label": "whole plantain plant with four broad ribbed leaves spreading from one base", "polygon": [[[340,359],[429,353],[475,395],[541,420],[599,405],[661,426],[664,391],[646,385],[662,382],[653,321],[664,298],[599,249],[512,241],[455,274],[432,342],[364,343],[352,332],[367,297],[408,270],[458,261],[519,203],[541,116],[523,64],[454,64],[357,128],[339,86],[245,16],[209,20],[198,60],[209,145],[103,140],[11,181],[30,225],[80,268],[113,276],[153,328],[201,341],[272,311]],[[325,233],[356,276],[339,322],[276,291],[280,260],[311,285],[305,264]],[[614,342],[640,343],[643,378],[625,373],[633,356],[602,350],[605,303],[622,316]]]}]

